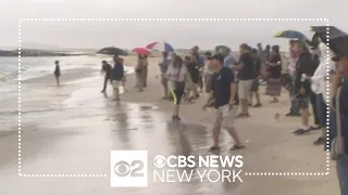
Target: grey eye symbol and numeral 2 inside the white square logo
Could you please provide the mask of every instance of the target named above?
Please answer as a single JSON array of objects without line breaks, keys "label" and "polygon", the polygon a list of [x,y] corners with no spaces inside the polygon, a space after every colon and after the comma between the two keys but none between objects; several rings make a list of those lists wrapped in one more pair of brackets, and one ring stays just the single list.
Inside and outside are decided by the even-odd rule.
[{"label": "grey eye symbol and numeral 2 inside the white square logo", "polygon": [[132,162],[121,160],[115,164],[114,173],[117,177],[144,177],[142,169],[144,162],[141,160],[133,160]]}]

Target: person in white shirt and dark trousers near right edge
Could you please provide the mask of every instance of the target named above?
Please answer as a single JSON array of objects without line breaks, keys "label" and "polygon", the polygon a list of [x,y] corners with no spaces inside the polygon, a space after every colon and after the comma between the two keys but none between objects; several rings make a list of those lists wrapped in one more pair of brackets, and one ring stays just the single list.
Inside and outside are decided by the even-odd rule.
[{"label": "person in white shirt and dark trousers near right edge", "polygon": [[[314,51],[320,57],[320,65],[312,77],[307,77],[311,82],[312,91],[316,94],[316,110],[323,132],[322,135],[313,142],[315,145],[325,144],[326,141],[326,109],[328,105],[327,91],[330,90],[330,88],[327,89],[327,73],[328,70],[334,69],[334,62],[331,60],[328,60],[328,62],[326,61],[326,44],[321,42],[318,50]],[[333,54],[332,51],[330,52]]]}]

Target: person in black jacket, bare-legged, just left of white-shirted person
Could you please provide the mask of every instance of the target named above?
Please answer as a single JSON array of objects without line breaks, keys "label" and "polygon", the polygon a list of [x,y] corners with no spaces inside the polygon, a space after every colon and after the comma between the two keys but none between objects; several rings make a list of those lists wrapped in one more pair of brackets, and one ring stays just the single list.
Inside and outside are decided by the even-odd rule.
[{"label": "person in black jacket, bare-legged, just left of white-shirted person", "polygon": [[296,63],[295,68],[295,99],[296,105],[301,110],[302,125],[294,133],[303,134],[310,130],[309,126],[309,102],[311,99],[311,84],[307,76],[311,77],[314,74],[314,67],[312,65],[312,55],[309,52],[307,44],[302,41],[297,41],[295,44],[295,50],[299,54],[299,58]]}]

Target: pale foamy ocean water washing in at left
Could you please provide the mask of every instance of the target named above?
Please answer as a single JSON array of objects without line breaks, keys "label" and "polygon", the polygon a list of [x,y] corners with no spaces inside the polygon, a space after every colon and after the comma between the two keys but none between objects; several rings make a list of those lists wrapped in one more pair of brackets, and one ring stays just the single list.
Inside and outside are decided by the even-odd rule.
[{"label": "pale foamy ocean water washing in at left", "polygon": [[[21,112],[23,114],[23,122],[32,121],[27,113],[37,115],[42,110],[57,109],[62,102],[70,99],[76,90],[86,88],[90,82],[102,84],[103,77],[99,74],[89,78],[80,78],[73,81],[63,82],[61,88],[55,88],[54,81],[52,86],[48,83],[37,84],[23,82],[18,87],[18,69],[21,69],[21,80],[52,75],[54,72],[54,61],[60,61],[61,72],[91,68],[99,73],[101,61],[108,61],[112,64],[112,57],[105,55],[80,55],[80,56],[63,56],[63,57],[22,57],[21,66],[18,66],[17,57],[0,57],[0,134],[2,131],[13,129],[17,122],[18,114],[18,89],[21,89]],[[133,73],[132,66],[126,66],[127,74]],[[100,91],[96,92],[100,95]],[[33,115],[36,116],[36,115]]]}]

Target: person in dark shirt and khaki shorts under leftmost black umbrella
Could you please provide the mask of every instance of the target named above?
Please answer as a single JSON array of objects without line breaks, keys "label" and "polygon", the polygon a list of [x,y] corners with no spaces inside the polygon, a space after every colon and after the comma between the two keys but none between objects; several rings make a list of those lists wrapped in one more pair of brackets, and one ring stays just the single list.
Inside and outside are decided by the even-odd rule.
[{"label": "person in dark shirt and khaki shorts under leftmost black umbrella", "polygon": [[120,87],[123,84],[124,79],[124,66],[123,58],[119,56],[113,57],[114,66],[112,68],[112,87],[114,92],[113,101],[120,101]]}]

